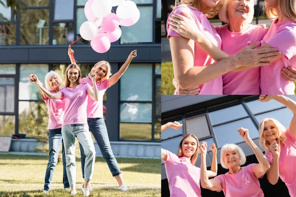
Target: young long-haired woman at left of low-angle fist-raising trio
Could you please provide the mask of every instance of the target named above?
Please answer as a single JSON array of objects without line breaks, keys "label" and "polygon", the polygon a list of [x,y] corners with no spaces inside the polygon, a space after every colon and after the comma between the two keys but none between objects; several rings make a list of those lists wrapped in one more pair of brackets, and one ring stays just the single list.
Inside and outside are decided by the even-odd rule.
[{"label": "young long-haired woman at left of low-angle fist-raising trio", "polygon": [[[182,124],[178,122],[167,123],[165,126],[161,126],[161,131],[169,128],[178,130],[181,127]],[[187,134],[180,141],[177,155],[161,149],[161,160],[165,164],[171,197],[201,197],[200,168],[194,165],[198,156],[198,145],[197,137]],[[208,170],[207,174],[214,177],[217,175],[218,168],[215,144],[212,144],[210,149],[213,151],[213,162],[211,170]]]}]

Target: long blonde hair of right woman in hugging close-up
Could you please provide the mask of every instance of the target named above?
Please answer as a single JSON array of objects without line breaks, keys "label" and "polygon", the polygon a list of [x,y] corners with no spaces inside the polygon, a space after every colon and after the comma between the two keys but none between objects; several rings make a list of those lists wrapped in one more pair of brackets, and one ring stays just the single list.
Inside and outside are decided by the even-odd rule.
[{"label": "long blonde hair of right woman in hugging close-up", "polygon": [[[278,0],[278,10],[287,19],[296,22],[296,0]],[[266,8],[264,3],[263,13],[266,13],[268,19],[275,19],[278,17],[275,8]]]}]

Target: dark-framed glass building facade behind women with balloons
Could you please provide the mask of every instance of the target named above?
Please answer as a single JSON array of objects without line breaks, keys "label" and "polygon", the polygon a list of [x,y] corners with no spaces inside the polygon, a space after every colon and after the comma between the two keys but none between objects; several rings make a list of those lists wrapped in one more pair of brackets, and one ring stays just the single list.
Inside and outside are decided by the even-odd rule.
[{"label": "dark-framed glass building facade behind women with balloons", "polygon": [[[44,127],[44,110],[40,110],[44,106],[39,105],[43,101],[28,77],[35,73],[44,83],[45,74],[55,70],[63,78],[65,67],[71,64],[68,45],[80,37],[80,25],[87,21],[86,1],[18,0],[22,9],[16,16],[0,4],[0,13],[8,19],[0,20],[0,124],[4,126],[0,135],[34,137],[38,131],[32,130]],[[72,49],[82,76],[101,60],[108,61],[115,73],[137,49],[138,56],[104,96],[105,121],[113,144],[152,145],[153,154],[145,151],[136,156],[159,158],[161,5],[160,0],[134,1],[141,13],[139,21],[121,27],[120,39],[111,43],[108,52],[96,53],[83,39]]]}]

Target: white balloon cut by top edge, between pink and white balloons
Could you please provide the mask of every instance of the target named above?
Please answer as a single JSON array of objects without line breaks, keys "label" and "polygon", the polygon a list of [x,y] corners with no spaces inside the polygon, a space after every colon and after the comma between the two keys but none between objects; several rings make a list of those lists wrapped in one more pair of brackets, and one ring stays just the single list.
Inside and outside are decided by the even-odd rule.
[{"label": "white balloon cut by top edge, between pink and white balloons", "polygon": [[111,9],[112,5],[109,0],[94,0],[91,5],[91,11],[98,18],[107,16],[111,13]]}]

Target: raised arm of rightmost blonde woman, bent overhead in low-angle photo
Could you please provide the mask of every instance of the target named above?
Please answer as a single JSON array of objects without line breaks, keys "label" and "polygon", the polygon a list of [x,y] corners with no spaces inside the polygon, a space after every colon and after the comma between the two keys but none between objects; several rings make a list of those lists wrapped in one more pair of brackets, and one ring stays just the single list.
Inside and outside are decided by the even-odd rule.
[{"label": "raised arm of rightmost blonde woman, bent overhead in low-angle photo", "polygon": [[288,109],[290,109],[293,113],[293,118],[289,125],[289,131],[296,138],[296,102],[288,97],[283,95],[260,95],[259,101],[267,102],[271,99],[274,99],[283,105],[285,105]]}]

